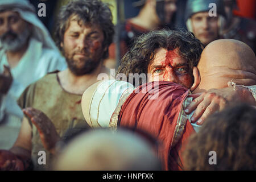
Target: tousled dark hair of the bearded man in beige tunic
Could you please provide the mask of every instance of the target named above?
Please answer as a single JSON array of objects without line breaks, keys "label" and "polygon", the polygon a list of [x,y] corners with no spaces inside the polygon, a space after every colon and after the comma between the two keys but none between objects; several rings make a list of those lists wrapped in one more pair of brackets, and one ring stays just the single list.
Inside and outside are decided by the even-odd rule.
[{"label": "tousled dark hair of the bearded man in beige tunic", "polygon": [[99,0],[75,0],[61,7],[55,31],[56,44],[61,51],[60,44],[63,42],[64,33],[69,27],[72,16],[77,16],[78,20],[82,20],[85,24],[97,24],[101,27],[104,32],[103,48],[106,48],[102,59],[106,59],[109,55],[108,47],[113,42],[114,36],[113,17],[108,3]]}]

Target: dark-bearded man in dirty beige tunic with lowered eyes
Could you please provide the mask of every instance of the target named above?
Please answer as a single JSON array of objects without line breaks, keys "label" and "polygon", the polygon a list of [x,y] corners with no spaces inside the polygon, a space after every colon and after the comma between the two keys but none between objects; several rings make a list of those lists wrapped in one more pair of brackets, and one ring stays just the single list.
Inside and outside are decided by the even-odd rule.
[{"label": "dark-bearded man in dirty beige tunic with lowered eyes", "polygon": [[[68,69],[43,77],[20,96],[20,107],[29,108],[23,110],[26,117],[14,146],[0,152],[0,169],[31,169],[31,160],[34,169],[49,169],[59,138],[77,123],[85,123],[82,93],[98,74],[108,73],[102,67],[114,34],[108,5],[98,0],[69,2],[57,22],[57,45]],[[44,159],[39,156],[42,151]]]}]

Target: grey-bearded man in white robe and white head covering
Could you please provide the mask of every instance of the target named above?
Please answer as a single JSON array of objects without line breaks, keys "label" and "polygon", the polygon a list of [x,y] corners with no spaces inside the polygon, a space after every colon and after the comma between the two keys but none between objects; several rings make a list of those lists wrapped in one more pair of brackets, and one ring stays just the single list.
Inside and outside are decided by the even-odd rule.
[{"label": "grey-bearded man in white robe and white head covering", "polygon": [[67,68],[46,27],[26,0],[0,1],[0,147],[9,148],[23,118],[16,100],[32,82]]}]

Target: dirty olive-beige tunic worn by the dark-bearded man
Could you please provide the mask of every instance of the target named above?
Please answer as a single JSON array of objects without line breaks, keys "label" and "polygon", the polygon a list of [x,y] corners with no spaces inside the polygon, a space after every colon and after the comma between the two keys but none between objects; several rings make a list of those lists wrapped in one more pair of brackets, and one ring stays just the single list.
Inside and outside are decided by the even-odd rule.
[{"label": "dirty olive-beige tunic worn by the dark-bearded man", "polygon": [[[44,76],[24,90],[18,100],[20,107],[34,107],[43,111],[56,127],[60,137],[65,131],[75,127],[78,123],[86,123],[81,110],[81,95],[65,91],[59,84],[57,73]],[[31,122],[30,122],[31,124]],[[31,124],[32,125],[32,124]],[[89,127],[89,125],[88,125]],[[46,165],[38,164],[39,151],[46,151],[39,137],[39,132],[32,125],[31,159],[35,170],[48,170],[52,157],[46,151]]]}]

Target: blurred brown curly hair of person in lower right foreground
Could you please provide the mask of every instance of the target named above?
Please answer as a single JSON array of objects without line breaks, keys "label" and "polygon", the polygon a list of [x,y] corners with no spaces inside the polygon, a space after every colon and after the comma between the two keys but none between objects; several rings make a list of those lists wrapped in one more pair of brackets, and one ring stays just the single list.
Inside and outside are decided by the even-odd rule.
[{"label": "blurred brown curly hair of person in lower right foreground", "polygon": [[[256,170],[256,109],[240,104],[211,115],[183,153],[187,170]],[[209,164],[209,152],[217,164]]]}]

